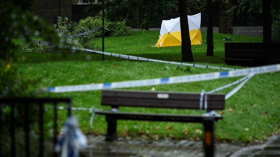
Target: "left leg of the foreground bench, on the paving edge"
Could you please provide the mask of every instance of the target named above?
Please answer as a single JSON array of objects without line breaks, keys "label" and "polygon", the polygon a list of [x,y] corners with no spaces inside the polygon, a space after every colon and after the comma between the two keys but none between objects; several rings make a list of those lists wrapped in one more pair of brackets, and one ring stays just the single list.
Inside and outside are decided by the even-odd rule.
[{"label": "left leg of the foreground bench, on the paving edge", "polygon": [[108,124],[106,141],[117,140],[118,139],[117,120],[114,119],[113,116],[106,115],[106,121],[107,121],[107,124]]}]

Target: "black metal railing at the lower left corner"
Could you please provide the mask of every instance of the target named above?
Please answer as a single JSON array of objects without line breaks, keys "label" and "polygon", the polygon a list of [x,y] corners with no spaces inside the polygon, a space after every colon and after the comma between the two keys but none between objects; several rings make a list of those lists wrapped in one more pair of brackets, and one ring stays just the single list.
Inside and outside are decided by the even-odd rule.
[{"label": "black metal railing at the lower left corner", "polygon": [[[57,142],[57,104],[58,103],[66,103],[67,104],[67,116],[71,116],[71,99],[69,98],[4,98],[0,99],[0,156],[1,154],[1,130],[3,127],[3,122],[2,122],[2,115],[7,114],[2,112],[2,107],[3,106],[10,106],[10,123],[9,123],[9,134],[10,134],[10,140],[11,140],[11,152],[10,156],[14,157],[16,156],[16,149],[15,149],[15,127],[16,127],[16,120],[15,120],[15,108],[22,108],[23,112],[23,128],[24,128],[24,145],[25,145],[25,155],[28,157],[30,156],[30,111],[34,109],[34,105],[38,105],[39,108],[39,118],[38,118],[38,126],[39,126],[39,154],[38,156],[44,156],[44,111],[45,111],[45,104],[52,104],[53,105],[53,144],[55,146],[55,143]],[[37,107],[37,106],[36,106]],[[7,115],[6,115],[7,116]],[[34,155],[32,155],[34,156]],[[57,156],[56,153],[53,153],[53,156]]]}]

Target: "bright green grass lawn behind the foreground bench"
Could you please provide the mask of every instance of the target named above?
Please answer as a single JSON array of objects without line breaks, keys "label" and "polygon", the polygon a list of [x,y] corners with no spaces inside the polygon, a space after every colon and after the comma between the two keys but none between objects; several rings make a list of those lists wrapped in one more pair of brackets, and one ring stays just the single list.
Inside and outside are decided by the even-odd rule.
[{"label": "bright green grass lawn behind the foreground bench", "polygon": [[[152,47],[158,40],[159,31],[133,31],[129,36],[106,37],[105,51],[135,55],[153,59],[168,61],[180,61],[180,46],[176,47]],[[206,44],[192,46],[195,63],[215,65],[223,67],[236,67],[225,65],[224,42],[226,36],[232,37],[232,42],[261,42],[261,37],[249,37],[241,35],[214,34],[214,57],[205,57]],[[206,43],[206,34],[203,33],[203,43]],[[97,41],[101,45],[101,39]],[[140,80],[149,78],[190,75],[217,71],[215,69],[193,68],[184,70],[176,65],[135,61],[105,56],[101,61],[100,54],[73,54],[66,58],[59,54],[50,53],[19,53],[19,72],[22,76],[31,80],[40,79],[35,84],[36,88],[48,86],[91,84],[102,82],[115,82],[125,80]],[[134,90],[157,91],[182,91],[201,92],[231,83],[237,78],[194,82],[185,84],[172,84],[161,86],[148,86],[129,88]],[[215,137],[218,140],[230,141],[254,141],[263,140],[271,134],[279,132],[280,123],[280,73],[267,73],[256,75],[238,91],[234,96],[226,100],[225,110],[220,111],[223,120],[215,124]],[[222,90],[227,93],[234,87]],[[75,107],[105,108],[100,105],[101,91],[71,92],[71,93],[42,93],[40,96],[70,97]],[[202,114],[204,111],[176,110],[157,108],[127,108],[121,107],[120,111],[130,112],[156,112],[156,113],[180,113]],[[63,117],[65,111],[60,111]],[[80,128],[88,133],[91,114],[87,111],[74,111],[79,119]],[[61,118],[62,119],[62,118]],[[60,120],[60,123],[63,121]],[[106,133],[106,121],[104,116],[96,116],[93,132],[95,134]],[[171,123],[171,122],[146,122],[146,121],[118,121],[118,134],[120,136],[141,136],[149,138],[203,138],[202,124]]]}]

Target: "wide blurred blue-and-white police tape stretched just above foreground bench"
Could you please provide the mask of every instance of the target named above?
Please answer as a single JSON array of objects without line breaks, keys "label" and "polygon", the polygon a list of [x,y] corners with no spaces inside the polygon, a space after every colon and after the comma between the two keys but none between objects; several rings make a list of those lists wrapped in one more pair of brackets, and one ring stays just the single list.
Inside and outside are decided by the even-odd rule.
[{"label": "wide blurred blue-and-white police tape stretched just above foreground bench", "polygon": [[55,87],[44,88],[42,90],[46,92],[52,92],[52,93],[62,93],[62,92],[103,90],[103,89],[113,89],[113,88],[154,86],[154,85],[163,85],[163,84],[179,84],[179,83],[187,83],[187,82],[215,80],[215,79],[229,78],[229,77],[238,77],[238,76],[249,75],[250,73],[260,74],[260,73],[271,73],[276,71],[280,71],[280,64],[267,65],[261,67],[252,67],[252,68],[238,69],[238,70],[231,70],[231,71],[223,71],[223,72],[174,76],[174,77],[155,78],[155,79],[146,79],[146,80],[70,85],[70,86],[55,86]]}]

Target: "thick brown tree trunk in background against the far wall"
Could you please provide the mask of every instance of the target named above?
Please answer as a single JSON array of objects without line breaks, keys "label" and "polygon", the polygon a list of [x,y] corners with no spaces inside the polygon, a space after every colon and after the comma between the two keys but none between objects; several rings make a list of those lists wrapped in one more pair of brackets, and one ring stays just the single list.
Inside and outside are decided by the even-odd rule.
[{"label": "thick brown tree trunk in background against the far wall", "polygon": [[227,13],[228,9],[232,8],[233,6],[234,6],[233,0],[219,1],[219,7],[220,7],[219,33],[233,34],[234,12],[231,11]]}]

